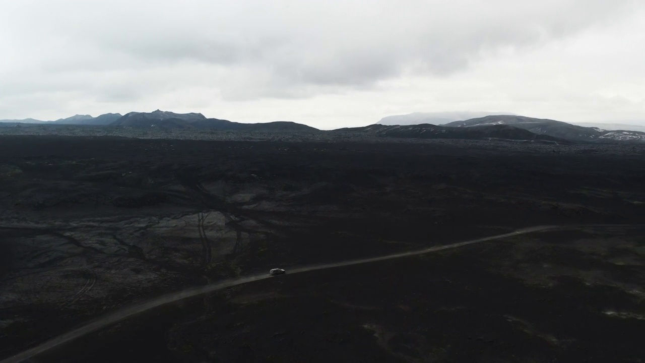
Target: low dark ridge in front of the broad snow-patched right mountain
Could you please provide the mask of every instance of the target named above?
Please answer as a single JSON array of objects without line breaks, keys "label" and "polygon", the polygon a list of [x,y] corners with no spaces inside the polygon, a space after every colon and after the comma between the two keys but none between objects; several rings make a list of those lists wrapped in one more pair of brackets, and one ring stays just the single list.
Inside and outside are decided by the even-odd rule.
[{"label": "low dark ridge in front of the broad snow-patched right mountain", "polygon": [[506,140],[537,140],[544,142],[568,142],[553,136],[535,134],[528,130],[509,125],[483,125],[477,127],[444,127],[424,123],[421,125],[370,125],[339,129],[336,131],[366,132],[375,136],[387,138],[417,138],[417,139],[506,139]]}]

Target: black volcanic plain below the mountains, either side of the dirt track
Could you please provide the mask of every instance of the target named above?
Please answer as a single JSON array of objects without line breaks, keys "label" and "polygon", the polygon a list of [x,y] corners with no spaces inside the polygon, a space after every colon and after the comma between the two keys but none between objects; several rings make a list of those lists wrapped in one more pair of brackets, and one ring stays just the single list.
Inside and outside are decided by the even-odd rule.
[{"label": "black volcanic plain below the mountains, either side of the dirt track", "polygon": [[0,136],[0,359],[645,360],[645,146],[334,137]]}]

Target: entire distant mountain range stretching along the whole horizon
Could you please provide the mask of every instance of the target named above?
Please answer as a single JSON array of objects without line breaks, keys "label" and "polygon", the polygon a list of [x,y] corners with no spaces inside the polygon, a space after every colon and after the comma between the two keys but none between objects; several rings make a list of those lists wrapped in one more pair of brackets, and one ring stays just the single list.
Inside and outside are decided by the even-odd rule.
[{"label": "entire distant mountain range stretching along the whole horizon", "polygon": [[[435,112],[390,116],[366,127],[321,131],[307,125],[289,121],[268,123],[238,123],[226,119],[206,118],[203,114],[155,110],[121,114],[75,115],[55,121],[37,119],[0,120],[0,127],[37,125],[94,125],[109,127],[161,128],[161,129],[212,129],[287,132],[353,132],[388,138],[444,138],[444,139],[506,139],[540,142],[645,142],[645,132],[638,130],[608,130],[600,127],[573,125],[554,119],[529,118],[518,115],[487,115],[465,120],[450,121],[444,125],[420,122],[414,125],[384,125],[433,119],[443,122],[486,112]],[[439,123],[437,122],[437,123]]]}]

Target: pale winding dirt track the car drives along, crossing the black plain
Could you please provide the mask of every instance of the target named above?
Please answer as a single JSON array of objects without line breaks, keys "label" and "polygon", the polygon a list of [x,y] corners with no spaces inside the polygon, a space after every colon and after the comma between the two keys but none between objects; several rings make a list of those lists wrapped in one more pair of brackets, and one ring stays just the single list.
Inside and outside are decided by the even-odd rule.
[{"label": "pale winding dirt track the car drives along, crossing the black plain", "polygon": [[[484,237],[484,238],[479,238],[477,240],[470,240],[465,242],[457,242],[455,244],[438,245],[435,247],[429,247],[429,248],[420,249],[417,251],[388,254],[386,256],[379,256],[379,257],[373,257],[373,258],[362,258],[360,260],[350,260],[350,261],[344,261],[344,262],[337,262],[333,264],[310,265],[310,266],[300,267],[297,269],[290,269],[288,271],[288,275],[293,275],[294,273],[304,273],[308,271],[322,270],[322,269],[331,269],[333,267],[342,267],[342,266],[350,266],[350,265],[358,265],[358,264],[367,264],[369,262],[392,260],[393,258],[415,256],[418,254],[431,253],[435,251],[442,251],[444,249],[454,249],[465,245],[477,244],[479,242],[498,240],[500,238],[516,236],[518,234],[542,232],[542,231],[547,231],[551,229],[570,228],[570,227],[582,227],[582,226],[539,225],[535,227],[519,229],[511,233],[498,234],[497,236]],[[107,315],[107,316],[104,316],[103,318],[99,318],[98,320],[95,320],[94,322],[90,322],[89,324],[86,324],[82,327],[69,331],[68,333],[64,333],[63,335],[59,335],[58,337],[52,338],[44,342],[43,344],[40,344],[39,346],[35,346],[31,349],[23,351],[22,353],[18,353],[13,357],[6,358],[5,360],[0,361],[0,363],[23,362],[31,357],[34,357],[35,355],[39,355],[40,353],[48,351],[49,349],[52,349],[56,346],[59,346],[66,342],[70,342],[76,338],[83,337],[83,335],[91,333],[92,331],[96,331],[103,327],[110,326],[111,324],[119,322],[120,320],[123,320],[133,315],[137,315],[139,313],[143,313],[144,311],[154,309],[155,307],[159,307],[164,304],[169,304],[171,302],[183,300],[184,298],[190,298],[192,296],[197,296],[204,293],[210,293],[212,291],[225,289],[226,287],[232,287],[236,285],[248,284],[249,282],[253,282],[253,281],[264,280],[270,277],[272,276],[268,274],[252,275],[252,276],[247,276],[243,278],[235,278],[232,280],[223,280],[221,282],[217,282],[216,284],[209,284],[201,287],[194,287],[192,289],[186,289],[184,291],[180,291],[179,293],[163,295],[163,296],[160,296],[159,298],[155,298],[154,300],[143,302],[141,304],[137,304],[131,307],[126,307],[119,311],[115,311],[110,315]]]}]

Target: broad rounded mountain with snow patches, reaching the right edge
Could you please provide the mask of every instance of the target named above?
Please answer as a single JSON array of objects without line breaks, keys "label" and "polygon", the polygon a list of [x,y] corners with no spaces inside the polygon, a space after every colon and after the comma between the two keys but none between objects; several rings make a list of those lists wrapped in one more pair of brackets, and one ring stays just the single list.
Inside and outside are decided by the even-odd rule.
[{"label": "broad rounded mountain with snow patches, reaching the right edge", "polygon": [[629,130],[602,130],[597,127],[571,125],[555,119],[539,119],[525,116],[498,115],[467,119],[447,123],[446,127],[481,127],[491,125],[511,125],[535,134],[549,135],[571,141],[611,142],[645,141],[645,132]]}]

